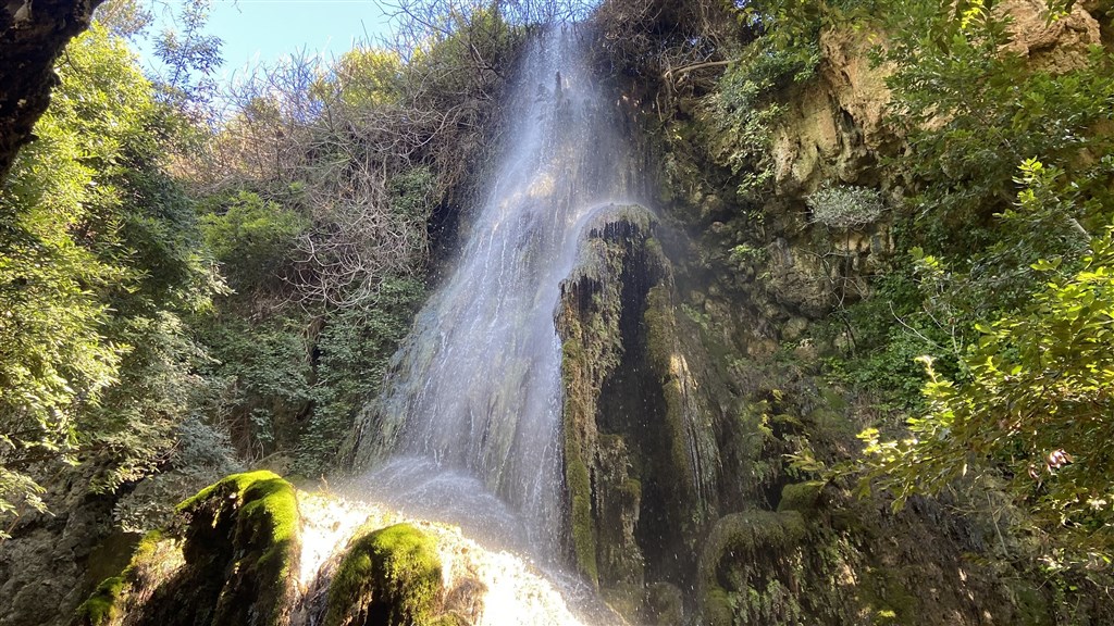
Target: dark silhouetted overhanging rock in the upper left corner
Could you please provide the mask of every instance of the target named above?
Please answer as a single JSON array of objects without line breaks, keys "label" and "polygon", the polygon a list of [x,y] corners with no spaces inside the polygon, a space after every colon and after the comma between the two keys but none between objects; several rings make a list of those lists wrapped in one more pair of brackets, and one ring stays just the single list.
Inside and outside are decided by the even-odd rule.
[{"label": "dark silhouetted overhanging rock in the upper left corner", "polygon": [[0,7],[0,182],[50,104],[55,59],[104,0],[9,0]]}]

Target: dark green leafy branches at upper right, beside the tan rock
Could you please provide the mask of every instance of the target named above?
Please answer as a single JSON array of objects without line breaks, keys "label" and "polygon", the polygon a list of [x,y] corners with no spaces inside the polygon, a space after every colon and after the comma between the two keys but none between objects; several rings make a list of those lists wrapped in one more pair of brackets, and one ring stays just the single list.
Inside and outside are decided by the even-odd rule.
[{"label": "dark green leafy branches at upper right, beside the tan rock", "polygon": [[[1014,174],[1027,158],[1069,167],[1079,193],[1103,192],[1108,166],[1077,158],[1104,155],[1111,119],[1111,57],[1092,51],[1082,67],[1054,71],[1003,48],[1010,20],[995,2],[896,3],[888,29],[906,33],[879,53],[893,63],[891,121],[910,149],[891,165],[918,180],[910,203],[919,243],[940,252],[980,251],[997,239],[991,218],[1016,194]],[[1100,218],[1097,205],[1078,206],[1081,221]]]}]

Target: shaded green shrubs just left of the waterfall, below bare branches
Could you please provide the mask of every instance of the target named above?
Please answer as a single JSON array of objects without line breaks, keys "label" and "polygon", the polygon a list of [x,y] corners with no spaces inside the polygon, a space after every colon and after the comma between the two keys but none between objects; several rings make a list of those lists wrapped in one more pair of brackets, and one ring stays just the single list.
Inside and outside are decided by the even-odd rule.
[{"label": "shaded green shrubs just left of the waterfall, below bare branches", "polygon": [[[362,209],[385,209],[389,214],[375,219],[399,218],[410,228],[424,228],[431,185],[427,168],[409,170],[388,183],[385,206]],[[275,243],[293,236],[295,228],[287,225],[301,228],[306,221],[256,194],[238,198],[245,200],[238,205],[243,211],[234,205],[224,215],[203,217],[215,252],[228,260],[233,285],[245,285],[198,324],[215,359],[203,371],[223,390],[209,397],[206,412],[232,434],[241,454],[257,459],[290,451],[297,471],[315,476],[338,459],[336,442],[378,392],[390,355],[409,331],[424,294],[422,281],[412,276],[421,266],[410,261],[399,273],[369,270],[354,285],[333,285],[328,300],[306,301],[299,292],[323,288],[328,275],[315,273],[312,284],[299,284],[283,268],[310,266],[304,248]],[[317,227],[335,229],[336,224],[319,217]],[[360,231],[346,236],[352,246],[382,244]],[[424,247],[410,254],[423,260]],[[299,300],[301,306],[291,306]]]}]

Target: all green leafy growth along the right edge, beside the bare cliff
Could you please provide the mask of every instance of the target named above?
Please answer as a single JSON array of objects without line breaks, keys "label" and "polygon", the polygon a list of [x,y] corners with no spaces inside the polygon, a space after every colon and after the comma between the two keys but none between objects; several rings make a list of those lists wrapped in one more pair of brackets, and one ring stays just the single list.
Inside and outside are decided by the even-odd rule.
[{"label": "all green leafy growth along the right edge, beside the bare cliff", "polygon": [[[1048,19],[1068,9],[1049,4]],[[869,297],[833,313],[850,351],[828,372],[887,399],[887,417],[916,417],[907,433],[890,421],[862,433],[852,466],[863,485],[888,489],[899,508],[915,493],[1004,483],[1024,511],[1015,530],[1039,530],[1040,541],[1003,557],[1108,563],[1111,362],[1097,348],[1111,321],[1108,50],[1058,65],[1022,56],[996,2],[744,12],[790,48],[868,14],[867,28],[892,33],[874,55],[889,68],[888,123],[909,146],[882,163],[903,192],[898,252]],[[814,222],[841,229],[882,215],[877,190],[862,187],[821,188],[808,205]]]}]

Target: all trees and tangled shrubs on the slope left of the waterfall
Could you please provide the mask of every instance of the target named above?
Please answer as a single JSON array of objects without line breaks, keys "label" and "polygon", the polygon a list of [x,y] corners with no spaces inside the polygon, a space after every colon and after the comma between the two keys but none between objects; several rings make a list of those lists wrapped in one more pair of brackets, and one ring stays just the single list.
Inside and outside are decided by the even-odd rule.
[{"label": "all trees and tangled shrubs on the slope left of the waterfall", "polygon": [[135,529],[240,460],[340,461],[525,32],[496,7],[417,37],[442,9],[408,6],[395,49],[262,69],[215,133],[204,2],[159,37],[154,81],[128,51],[150,23],[135,2],[67,49],[0,190],[0,534],[46,508],[59,460],[102,491],[157,473],[160,505],[120,502]]}]

